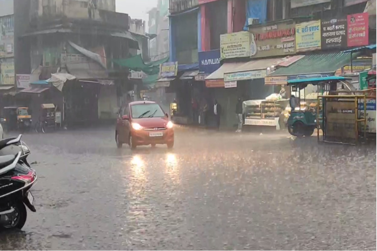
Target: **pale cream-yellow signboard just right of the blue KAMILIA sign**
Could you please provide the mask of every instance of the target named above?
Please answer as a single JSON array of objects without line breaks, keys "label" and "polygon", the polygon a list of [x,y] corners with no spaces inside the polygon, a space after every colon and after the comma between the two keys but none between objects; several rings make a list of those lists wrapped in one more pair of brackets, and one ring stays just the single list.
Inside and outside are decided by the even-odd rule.
[{"label": "pale cream-yellow signboard just right of the blue KAMILIA sign", "polygon": [[220,55],[222,59],[250,57],[250,32],[220,35]]}]

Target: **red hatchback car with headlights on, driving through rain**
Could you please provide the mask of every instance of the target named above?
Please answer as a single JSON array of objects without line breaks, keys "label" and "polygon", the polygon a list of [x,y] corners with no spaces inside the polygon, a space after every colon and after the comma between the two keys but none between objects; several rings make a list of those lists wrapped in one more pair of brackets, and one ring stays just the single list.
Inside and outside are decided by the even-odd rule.
[{"label": "red hatchback car with headlights on, driving through rain", "polygon": [[123,107],[115,128],[116,146],[121,148],[128,144],[131,149],[136,146],[166,144],[174,146],[173,123],[161,106],[152,101],[130,102]]}]

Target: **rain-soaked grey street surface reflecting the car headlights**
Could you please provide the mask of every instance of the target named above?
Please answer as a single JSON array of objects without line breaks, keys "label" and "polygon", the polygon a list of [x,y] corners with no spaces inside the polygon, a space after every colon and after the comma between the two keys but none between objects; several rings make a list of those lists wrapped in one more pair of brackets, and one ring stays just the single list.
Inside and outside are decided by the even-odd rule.
[{"label": "rain-soaked grey street surface reflecting the car headlights", "polygon": [[376,248],[375,146],[178,129],[117,149],[113,128],[27,134],[36,213],[7,249]]}]

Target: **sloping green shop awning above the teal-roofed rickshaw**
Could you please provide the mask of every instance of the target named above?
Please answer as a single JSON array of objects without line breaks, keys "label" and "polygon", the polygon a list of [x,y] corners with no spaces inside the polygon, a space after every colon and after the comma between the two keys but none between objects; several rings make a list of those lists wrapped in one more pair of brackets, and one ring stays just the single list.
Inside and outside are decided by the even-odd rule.
[{"label": "sloping green shop awning above the teal-roofed rickshaw", "polygon": [[[358,53],[352,53],[356,58]],[[319,73],[335,73],[339,68],[351,63],[351,53],[328,53],[307,55],[288,67],[280,67],[270,76],[308,75]]]}]

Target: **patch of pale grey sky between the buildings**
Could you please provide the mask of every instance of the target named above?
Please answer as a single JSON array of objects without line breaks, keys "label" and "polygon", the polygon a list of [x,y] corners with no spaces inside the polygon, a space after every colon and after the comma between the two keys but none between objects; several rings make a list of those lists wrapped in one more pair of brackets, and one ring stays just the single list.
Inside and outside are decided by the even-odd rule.
[{"label": "patch of pale grey sky between the buildings", "polygon": [[157,0],[116,0],[116,12],[127,13],[131,18],[141,18],[146,22],[148,29],[147,11],[157,7]]}]

